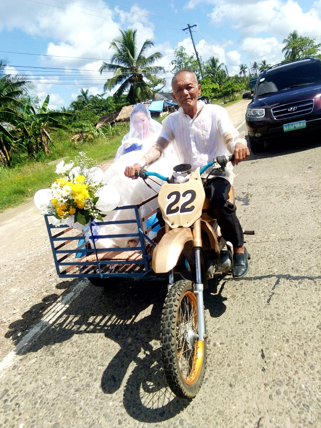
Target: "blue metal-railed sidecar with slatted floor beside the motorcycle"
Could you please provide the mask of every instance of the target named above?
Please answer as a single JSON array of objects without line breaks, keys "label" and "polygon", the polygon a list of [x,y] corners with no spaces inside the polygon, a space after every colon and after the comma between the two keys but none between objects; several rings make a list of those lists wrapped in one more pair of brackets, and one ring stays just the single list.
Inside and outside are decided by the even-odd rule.
[{"label": "blue metal-railed sidecar with slatted floor beside the motorcycle", "polygon": [[[140,277],[151,271],[151,248],[155,246],[155,239],[147,234],[159,223],[151,227],[146,226],[146,220],[156,212],[156,209],[140,215],[141,208],[157,198],[154,195],[137,205],[125,205],[115,208],[128,210],[128,219],[99,222],[102,225],[136,224],[133,233],[97,235],[95,225],[84,227],[78,231],[67,225],[53,226],[50,224],[50,215],[45,215],[51,249],[53,252],[56,270],[61,278],[86,277]],[[104,238],[138,238],[136,247],[97,248],[96,242]]]}]

